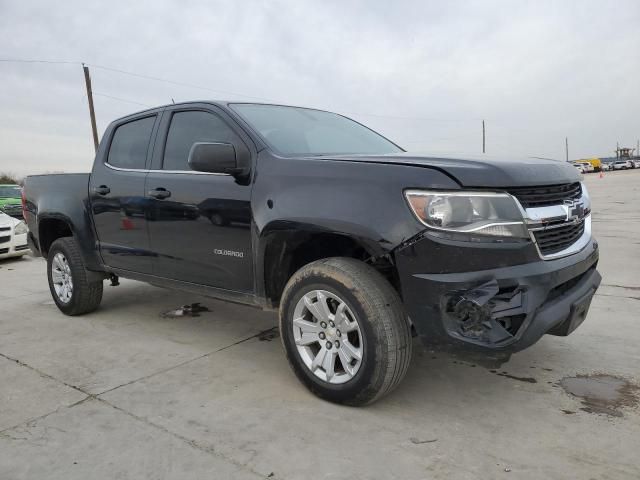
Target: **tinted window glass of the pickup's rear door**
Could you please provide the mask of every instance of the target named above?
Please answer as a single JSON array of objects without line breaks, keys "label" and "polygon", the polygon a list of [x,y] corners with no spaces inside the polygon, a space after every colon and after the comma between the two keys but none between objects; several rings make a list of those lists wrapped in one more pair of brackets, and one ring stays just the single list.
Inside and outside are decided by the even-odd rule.
[{"label": "tinted window glass of the pickup's rear door", "polygon": [[118,168],[144,169],[156,117],[146,117],[116,128],[107,162]]}]

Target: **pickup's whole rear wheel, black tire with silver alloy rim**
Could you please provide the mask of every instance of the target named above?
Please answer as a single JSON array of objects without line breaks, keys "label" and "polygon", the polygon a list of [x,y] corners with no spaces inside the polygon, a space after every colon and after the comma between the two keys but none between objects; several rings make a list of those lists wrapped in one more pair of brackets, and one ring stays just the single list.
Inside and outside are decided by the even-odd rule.
[{"label": "pickup's whole rear wheel, black tire with silver alloy rim", "polygon": [[102,281],[90,282],[73,238],[59,238],[47,255],[47,277],[54,302],[66,315],[94,311],[102,301]]}]

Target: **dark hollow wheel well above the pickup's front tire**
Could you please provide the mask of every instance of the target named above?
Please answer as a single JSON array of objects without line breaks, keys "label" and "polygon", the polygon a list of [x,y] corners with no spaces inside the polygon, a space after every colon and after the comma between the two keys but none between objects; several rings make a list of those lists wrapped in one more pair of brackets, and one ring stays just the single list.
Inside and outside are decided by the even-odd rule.
[{"label": "dark hollow wheel well above the pickup's front tire", "polygon": [[358,241],[335,233],[298,233],[276,238],[264,255],[265,296],[278,305],[291,276],[308,263],[329,257],[349,257],[362,260],[381,272],[399,291],[397,273],[387,257],[373,258]]}]

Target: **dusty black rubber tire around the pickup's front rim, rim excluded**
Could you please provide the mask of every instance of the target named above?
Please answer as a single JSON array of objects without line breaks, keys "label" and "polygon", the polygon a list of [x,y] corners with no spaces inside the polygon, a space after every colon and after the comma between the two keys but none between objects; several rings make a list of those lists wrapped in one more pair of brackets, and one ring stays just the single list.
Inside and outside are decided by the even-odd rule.
[{"label": "dusty black rubber tire around the pickup's front rim, rim excluded", "polygon": [[[300,357],[295,343],[295,307],[314,290],[340,297],[360,325],[362,363],[342,384],[318,378]],[[345,405],[370,404],[391,392],[404,378],[411,360],[411,330],[398,293],[374,268],[351,258],[318,260],[291,277],[280,303],[280,336],[298,379],[318,397]]]}]

